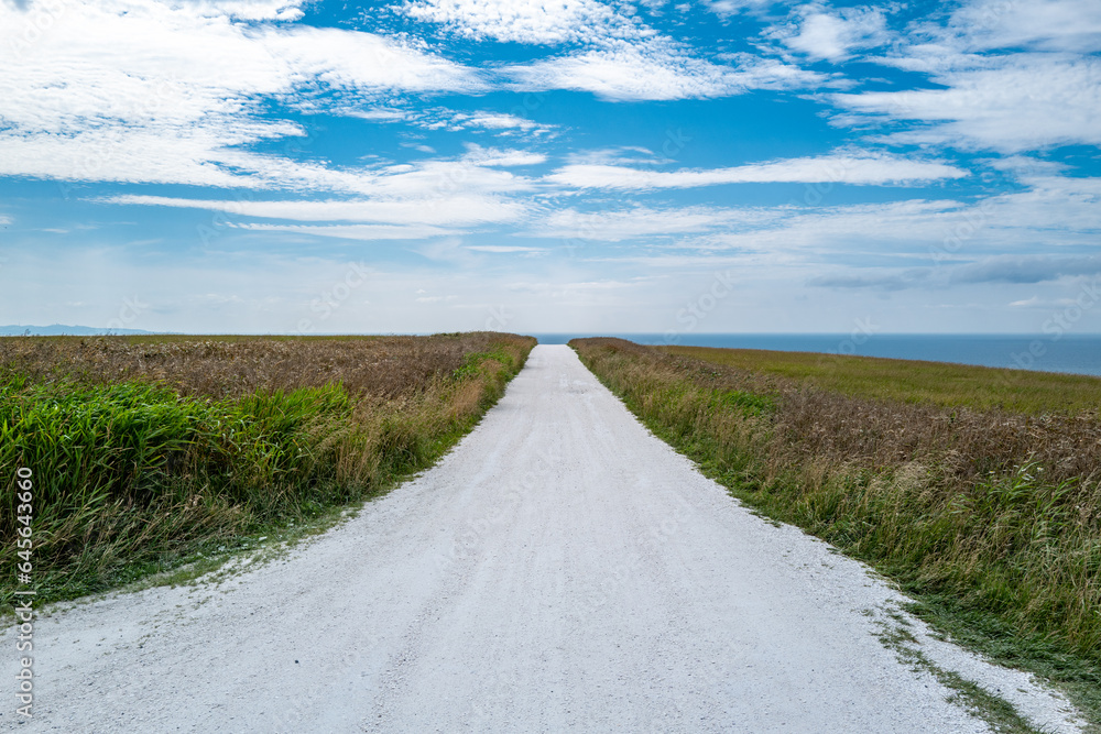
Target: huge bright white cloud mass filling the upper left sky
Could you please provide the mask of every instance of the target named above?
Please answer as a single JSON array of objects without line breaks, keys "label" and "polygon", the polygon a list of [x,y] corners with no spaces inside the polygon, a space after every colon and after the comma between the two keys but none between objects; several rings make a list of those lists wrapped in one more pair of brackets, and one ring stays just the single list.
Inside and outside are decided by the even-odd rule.
[{"label": "huge bright white cloud mass filling the upper left sky", "polygon": [[260,1],[0,4],[0,174],[308,186],[340,175],[243,150],[303,134],[263,117],[266,100],[483,88],[466,67],[369,33],[253,22],[297,13]]}]

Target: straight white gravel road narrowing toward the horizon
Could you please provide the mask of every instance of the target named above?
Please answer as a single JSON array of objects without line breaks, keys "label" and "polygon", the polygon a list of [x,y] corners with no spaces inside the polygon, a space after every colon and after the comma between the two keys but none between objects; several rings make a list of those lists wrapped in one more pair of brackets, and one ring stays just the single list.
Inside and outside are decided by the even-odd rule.
[{"label": "straight white gravel road narrowing toward the horizon", "polygon": [[[877,633],[861,565],[753,516],[566,347],[537,347],[440,463],[229,581],[34,631],[21,732],[986,732]],[[1038,725],[1027,676],[911,632]]]}]

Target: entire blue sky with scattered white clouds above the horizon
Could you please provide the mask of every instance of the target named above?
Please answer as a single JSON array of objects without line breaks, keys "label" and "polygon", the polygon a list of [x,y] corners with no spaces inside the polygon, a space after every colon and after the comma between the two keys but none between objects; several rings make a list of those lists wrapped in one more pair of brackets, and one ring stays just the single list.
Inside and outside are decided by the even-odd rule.
[{"label": "entire blue sky with scattered white clouds above the horizon", "polygon": [[0,0],[0,322],[1101,331],[1097,0]]}]

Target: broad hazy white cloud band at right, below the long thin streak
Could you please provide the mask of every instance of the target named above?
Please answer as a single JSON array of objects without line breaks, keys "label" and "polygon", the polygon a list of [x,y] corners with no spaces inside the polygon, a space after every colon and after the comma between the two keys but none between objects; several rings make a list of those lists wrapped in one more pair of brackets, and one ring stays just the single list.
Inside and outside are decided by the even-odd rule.
[{"label": "broad hazy white cloud band at right, below the long thin streak", "polygon": [[[825,207],[565,209],[533,221],[525,234],[579,245],[635,240],[646,247],[712,254],[766,252],[804,264],[830,260],[868,264],[891,258],[947,267],[1001,255],[1042,260],[1059,249],[1068,255],[1092,252],[1101,235],[1101,178],[1046,176],[1026,183],[1029,188],[1024,191],[974,202],[912,199]],[[636,251],[626,256],[633,254]],[[839,272],[850,277],[849,270]]]}]

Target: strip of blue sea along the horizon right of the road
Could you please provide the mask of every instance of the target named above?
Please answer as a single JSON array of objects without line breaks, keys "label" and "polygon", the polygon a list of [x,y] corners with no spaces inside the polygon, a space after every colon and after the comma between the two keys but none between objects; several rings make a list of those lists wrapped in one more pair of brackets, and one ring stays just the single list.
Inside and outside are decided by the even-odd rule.
[{"label": "strip of blue sea along the horizon right of the road", "polygon": [[1101,376],[1101,335],[990,333],[537,333],[539,343],[564,344],[580,337],[620,337],[640,344],[771,349],[955,362],[992,368]]}]

